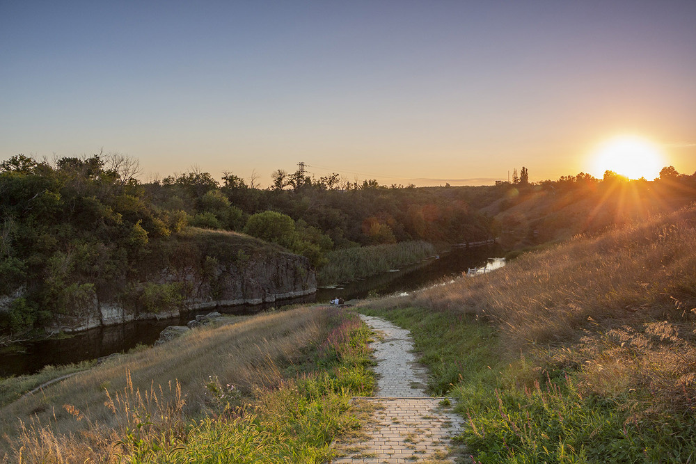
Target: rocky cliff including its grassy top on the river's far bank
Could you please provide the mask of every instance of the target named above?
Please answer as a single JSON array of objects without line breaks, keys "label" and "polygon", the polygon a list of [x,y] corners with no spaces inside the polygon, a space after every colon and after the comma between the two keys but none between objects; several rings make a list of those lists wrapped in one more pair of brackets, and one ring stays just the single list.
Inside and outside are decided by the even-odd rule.
[{"label": "rocky cliff including its grassy top on the river's far bank", "polygon": [[192,243],[189,237],[153,254],[143,264],[139,282],[129,283],[129,291],[96,292],[81,307],[69,308],[69,314],[56,314],[47,329],[77,332],[179,317],[191,310],[272,303],[317,291],[315,271],[306,257],[259,246],[248,237],[200,235],[206,239]]}]

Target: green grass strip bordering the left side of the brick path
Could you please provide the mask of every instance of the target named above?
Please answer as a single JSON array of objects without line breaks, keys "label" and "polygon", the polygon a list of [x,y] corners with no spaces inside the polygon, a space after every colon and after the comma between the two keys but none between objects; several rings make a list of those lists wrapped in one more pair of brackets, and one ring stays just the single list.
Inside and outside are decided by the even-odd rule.
[{"label": "green grass strip bordering the left side of the brick path", "polygon": [[[129,436],[131,463],[320,463],[333,457],[334,438],[357,429],[349,414],[352,396],[372,392],[367,370],[369,330],[354,315],[342,319],[310,360],[310,369],[274,389],[260,389],[248,406],[226,406],[205,417],[181,438]],[[315,371],[313,369],[319,370]]]}]

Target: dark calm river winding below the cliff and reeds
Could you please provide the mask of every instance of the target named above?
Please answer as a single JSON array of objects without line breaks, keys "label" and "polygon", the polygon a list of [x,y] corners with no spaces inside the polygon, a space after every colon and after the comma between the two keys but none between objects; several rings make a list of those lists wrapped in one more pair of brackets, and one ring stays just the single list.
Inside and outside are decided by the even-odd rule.
[{"label": "dark calm river winding below the cliff and reeds", "polygon": [[[500,250],[496,246],[482,248],[453,248],[443,253],[439,259],[408,266],[398,272],[376,275],[360,282],[345,285],[340,289],[319,289],[317,294],[303,298],[283,301],[283,305],[296,303],[328,303],[331,298],[340,297],[346,301],[364,298],[370,291],[380,295],[402,291],[413,291],[443,278],[461,276],[470,267],[482,266],[489,257],[496,256]],[[267,305],[239,305],[219,308],[226,314],[254,314],[278,303]],[[207,314],[213,310],[189,312],[179,319],[161,321],[139,321],[96,328],[79,333],[67,339],[49,339],[24,346],[22,353],[0,353],[0,376],[30,374],[46,365],[63,365],[119,353],[136,344],[153,344],[159,333],[167,326],[186,325],[196,314]]]}]

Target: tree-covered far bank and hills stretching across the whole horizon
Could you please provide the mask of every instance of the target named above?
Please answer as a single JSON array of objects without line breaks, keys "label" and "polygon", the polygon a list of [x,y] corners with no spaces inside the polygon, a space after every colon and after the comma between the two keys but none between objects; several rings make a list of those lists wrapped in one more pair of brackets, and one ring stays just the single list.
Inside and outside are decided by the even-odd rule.
[{"label": "tree-covered far bank and hills stretching across the whole horizon", "polygon": [[[187,226],[243,232],[319,267],[332,250],[404,241],[535,246],[696,198],[696,174],[671,166],[657,182],[607,172],[535,184],[521,174],[493,186],[416,188],[277,170],[260,189],[200,170],[142,183],[138,161],[119,154],[53,162],[19,154],[0,163],[0,298],[15,298],[0,329],[40,325],[112,282],[136,281]],[[17,298],[20,289],[29,296]]]}]

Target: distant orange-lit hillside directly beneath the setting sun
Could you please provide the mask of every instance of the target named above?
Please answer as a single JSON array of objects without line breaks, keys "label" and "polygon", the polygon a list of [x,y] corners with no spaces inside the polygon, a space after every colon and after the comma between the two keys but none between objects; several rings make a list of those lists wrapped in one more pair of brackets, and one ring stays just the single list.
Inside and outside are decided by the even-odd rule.
[{"label": "distant orange-lit hillside directly beneath the setting sun", "polygon": [[480,211],[493,218],[505,248],[526,248],[576,234],[597,234],[674,211],[695,199],[693,176],[654,182],[571,176],[519,189],[498,186],[498,197],[487,198]]}]

